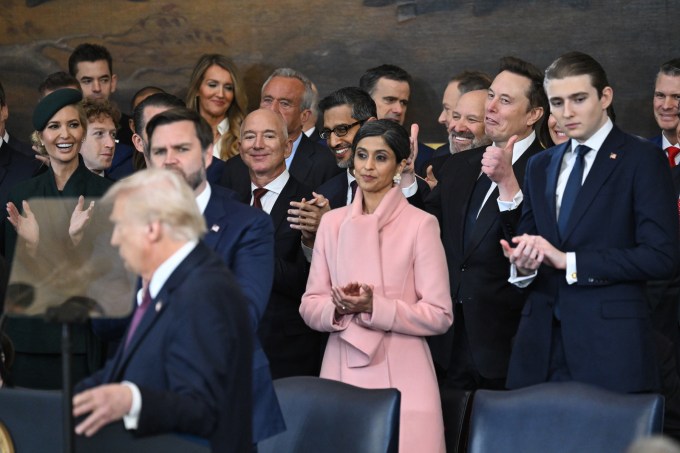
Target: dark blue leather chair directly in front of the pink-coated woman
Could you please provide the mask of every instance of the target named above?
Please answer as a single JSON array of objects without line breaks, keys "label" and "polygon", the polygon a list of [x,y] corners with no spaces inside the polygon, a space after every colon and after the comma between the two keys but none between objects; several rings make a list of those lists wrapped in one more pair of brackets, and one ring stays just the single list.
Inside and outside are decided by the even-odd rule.
[{"label": "dark blue leather chair directly in front of the pink-coated woman", "polygon": [[299,376],[274,381],[286,431],[259,453],[397,453],[401,394]]}]

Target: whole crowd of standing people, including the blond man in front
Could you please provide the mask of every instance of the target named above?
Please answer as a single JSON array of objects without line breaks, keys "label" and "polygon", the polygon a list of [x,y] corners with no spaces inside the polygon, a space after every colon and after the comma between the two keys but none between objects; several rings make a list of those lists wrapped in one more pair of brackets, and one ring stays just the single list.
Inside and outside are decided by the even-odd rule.
[{"label": "whole crowd of standing people, including the blond man in front", "polygon": [[[129,316],[74,331],[78,434],[123,420],[253,451],[285,430],[272,380],[315,375],[398,388],[403,452],[446,451],[440,389],[547,381],[662,393],[680,437],[680,60],[651,140],[569,52],[454,76],[436,149],[405,128],[412,80],[389,64],[321,99],[276,69],[248,112],[237,66],[206,54],[184,100],[143,87],[132,116],[104,47],[68,67],[39,87],[31,145],[0,85],[0,244],[2,289],[21,266],[42,294],[110,218],[138,277]],[[14,283],[2,380],[61,388],[59,330]]]}]

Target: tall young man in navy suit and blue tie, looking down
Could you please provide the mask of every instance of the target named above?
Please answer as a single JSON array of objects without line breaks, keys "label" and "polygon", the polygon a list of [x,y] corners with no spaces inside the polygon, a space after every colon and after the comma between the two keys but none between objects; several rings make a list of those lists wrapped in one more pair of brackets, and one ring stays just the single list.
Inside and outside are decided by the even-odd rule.
[{"label": "tall young man in navy suit and blue tie, looking down", "polygon": [[551,112],[570,140],[529,161],[521,236],[514,248],[502,241],[511,280],[529,291],[507,385],[658,390],[645,281],[670,278],[680,262],[668,163],[613,125],[613,90],[592,57],[562,55],[545,77]]}]

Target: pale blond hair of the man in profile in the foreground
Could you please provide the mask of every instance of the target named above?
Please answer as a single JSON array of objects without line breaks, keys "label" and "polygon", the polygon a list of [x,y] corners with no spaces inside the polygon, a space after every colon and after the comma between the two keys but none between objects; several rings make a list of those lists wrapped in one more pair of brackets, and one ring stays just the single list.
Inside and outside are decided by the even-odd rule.
[{"label": "pale blond hair of the man in profile in the foreground", "polygon": [[111,203],[127,196],[127,215],[142,223],[160,222],[174,240],[197,241],[206,232],[205,219],[184,178],[171,170],[140,170],[115,183],[102,198]]}]

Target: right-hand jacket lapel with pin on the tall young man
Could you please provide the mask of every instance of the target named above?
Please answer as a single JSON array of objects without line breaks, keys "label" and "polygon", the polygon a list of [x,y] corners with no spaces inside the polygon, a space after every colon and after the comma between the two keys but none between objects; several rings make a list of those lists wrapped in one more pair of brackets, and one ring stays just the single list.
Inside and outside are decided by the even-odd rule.
[{"label": "right-hand jacket lapel with pin on the tall young man", "polygon": [[623,159],[623,136],[614,128],[597,152],[595,162],[588,172],[588,176],[583,183],[583,187],[576,196],[576,204],[569,215],[569,223],[562,241],[569,237],[576,225],[579,224],[583,215],[590,208],[593,199],[600,191],[609,175],[614,171],[618,163]]}]

